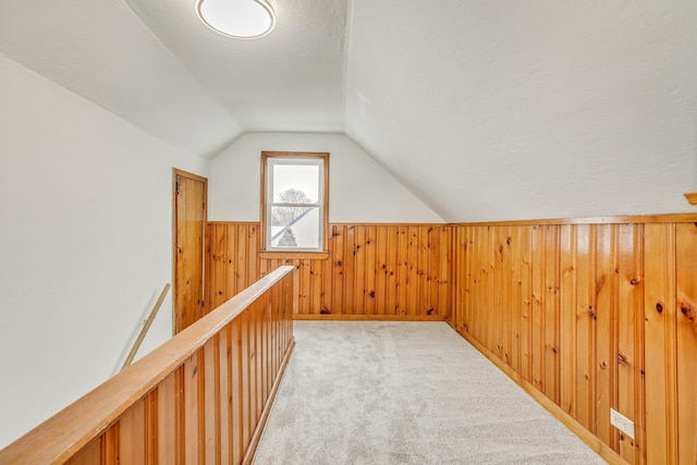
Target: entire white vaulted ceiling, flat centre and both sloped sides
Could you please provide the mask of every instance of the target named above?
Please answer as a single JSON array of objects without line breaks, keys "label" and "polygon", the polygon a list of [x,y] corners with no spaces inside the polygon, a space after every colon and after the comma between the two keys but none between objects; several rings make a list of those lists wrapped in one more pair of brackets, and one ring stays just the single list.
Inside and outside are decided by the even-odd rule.
[{"label": "entire white vaulted ceiling, flat centre and both sloped sides", "polygon": [[688,211],[694,0],[0,0],[0,51],[174,146],[345,133],[448,221]]}]

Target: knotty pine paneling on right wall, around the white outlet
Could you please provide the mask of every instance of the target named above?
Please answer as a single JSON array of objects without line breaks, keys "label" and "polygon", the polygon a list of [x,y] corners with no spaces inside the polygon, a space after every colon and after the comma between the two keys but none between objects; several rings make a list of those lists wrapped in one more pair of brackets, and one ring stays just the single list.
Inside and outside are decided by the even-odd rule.
[{"label": "knotty pine paneling on right wall, around the white outlet", "polygon": [[697,464],[696,221],[453,225],[448,318],[627,462]]}]

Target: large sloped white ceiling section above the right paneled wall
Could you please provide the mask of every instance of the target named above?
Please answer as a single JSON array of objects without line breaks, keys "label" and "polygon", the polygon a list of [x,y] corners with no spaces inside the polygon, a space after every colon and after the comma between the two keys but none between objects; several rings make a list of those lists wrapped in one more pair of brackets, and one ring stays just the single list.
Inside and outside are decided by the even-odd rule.
[{"label": "large sloped white ceiling section above the right paneled wall", "polygon": [[696,1],[352,5],[346,133],[445,220],[690,211]]}]

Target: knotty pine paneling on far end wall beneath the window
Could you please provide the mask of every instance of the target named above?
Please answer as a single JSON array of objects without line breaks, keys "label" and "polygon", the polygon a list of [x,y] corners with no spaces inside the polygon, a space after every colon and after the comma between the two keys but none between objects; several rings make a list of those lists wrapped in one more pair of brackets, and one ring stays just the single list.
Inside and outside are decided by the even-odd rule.
[{"label": "knotty pine paneling on far end wall beneath the window", "polygon": [[217,306],[280,265],[295,267],[295,318],[443,319],[448,225],[330,224],[329,258],[260,258],[259,223],[211,222],[206,301]]}]

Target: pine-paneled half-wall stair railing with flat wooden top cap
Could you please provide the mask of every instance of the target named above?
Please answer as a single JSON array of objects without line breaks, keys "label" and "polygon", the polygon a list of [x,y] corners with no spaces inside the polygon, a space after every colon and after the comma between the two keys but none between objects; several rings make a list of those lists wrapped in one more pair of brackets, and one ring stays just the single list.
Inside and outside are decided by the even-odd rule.
[{"label": "pine-paneled half-wall stair railing with flat wooden top cap", "polygon": [[280,267],[0,451],[0,464],[248,463],[293,348]]}]

